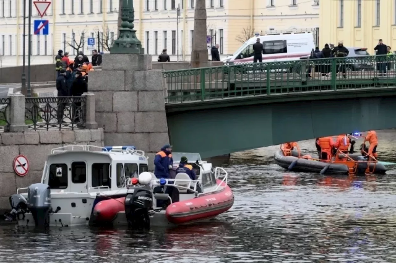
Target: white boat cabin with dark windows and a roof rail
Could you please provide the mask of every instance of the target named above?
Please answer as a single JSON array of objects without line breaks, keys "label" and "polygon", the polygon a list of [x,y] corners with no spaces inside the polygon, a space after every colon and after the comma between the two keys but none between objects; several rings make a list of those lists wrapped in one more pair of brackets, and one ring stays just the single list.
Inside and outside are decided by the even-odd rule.
[{"label": "white boat cabin with dark windows and a roof rail", "polygon": [[69,145],[51,150],[41,182],[51,192],[118,191],[126,189],[128,178],[147,171],[145,152],[133,146]]}]

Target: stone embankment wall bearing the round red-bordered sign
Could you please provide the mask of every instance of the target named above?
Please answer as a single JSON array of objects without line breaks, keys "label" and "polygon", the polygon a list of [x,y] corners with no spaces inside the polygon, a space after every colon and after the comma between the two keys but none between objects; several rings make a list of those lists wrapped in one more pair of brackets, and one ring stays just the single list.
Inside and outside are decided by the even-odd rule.
[{"label": "stone embankment wall bearing the round red-bordered sign", "polygon": [[[0,133],[0,215],[9,210],[8,198],[17,188],[28,187],[41,180],[44,162],[51,149],[65,145],[103,147],[103,129],[65,131],[24,131]],[[14,158],[23,154],[29,161],[29,172],[14,172]]]}]

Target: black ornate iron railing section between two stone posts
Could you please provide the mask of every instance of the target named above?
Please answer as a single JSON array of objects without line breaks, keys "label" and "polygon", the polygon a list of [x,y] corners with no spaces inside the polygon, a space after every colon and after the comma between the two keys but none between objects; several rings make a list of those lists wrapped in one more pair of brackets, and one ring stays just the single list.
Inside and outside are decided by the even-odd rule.
[{"label": "black ornate iron railing section between two stone posts", "polygon": [[31,130],[74,130],[85,126],[86,97],[26,97],[25,123]]}]

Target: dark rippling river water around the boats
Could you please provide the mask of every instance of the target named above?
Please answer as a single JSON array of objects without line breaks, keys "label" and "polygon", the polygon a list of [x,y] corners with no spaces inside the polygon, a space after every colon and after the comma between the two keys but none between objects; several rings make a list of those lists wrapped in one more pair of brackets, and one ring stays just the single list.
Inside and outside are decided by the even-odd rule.
[{"label": "dark rippling river water around the boats", "polygon": [[[396,162],[396,130],[379,131]],[[299,143],[315,155],[314,140]],[[357,145],[357,144],[356,144]],[[285,172],[279,146],[232,154],[234,206],[211,223],[150,231],[0,226],[0,262],[396,262],[396,166],[350,178]]]}]

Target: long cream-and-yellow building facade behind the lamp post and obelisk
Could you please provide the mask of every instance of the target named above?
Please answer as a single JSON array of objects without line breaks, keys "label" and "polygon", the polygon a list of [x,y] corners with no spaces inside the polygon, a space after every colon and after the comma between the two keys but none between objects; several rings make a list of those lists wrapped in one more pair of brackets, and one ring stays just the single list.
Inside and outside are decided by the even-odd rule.
[{"label": "long cream-and-yellow building facade behind the lamp post and obelisk", "polygon": [[[195,1],[134,1],[137,37],[145,52],[153,55],[153,61],[164,48],[167,48],[172,61],[190,59]],[[68,51],[74,58],[77,52],[70,44],[78,46],[82,34],[85,40],[82,50],[86,54],[91,52],[87,38],[95,38],[95,48],[105,53],[117,38],[119,0],[51,2],[42,18],[49,21],[48,36],[32,36],[32,65],[53,63],[58,50]],[[28,11],[29,7],[26,8]],[[234,53],[243,40],[256,32],[268,34],[277,30],[319,26],[318,0],[206,0],[206,8],[207,34],[211,36],[208,40],[209,57],[211,46],[219,44],[223,58]],[[41,18],[34,6],[32,10],[33,25],[34,20]],[[25,44],[27,54],[27,37]],[[23,0],[0,0],[0,67],[22,65],[22,52]]]}]

